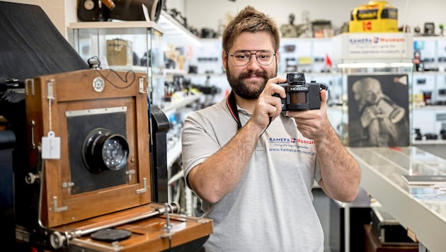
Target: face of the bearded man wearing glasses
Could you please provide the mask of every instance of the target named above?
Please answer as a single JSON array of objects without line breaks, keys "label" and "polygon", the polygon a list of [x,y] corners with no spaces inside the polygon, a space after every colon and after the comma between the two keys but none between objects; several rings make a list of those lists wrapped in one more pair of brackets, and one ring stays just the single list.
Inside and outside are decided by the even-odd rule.
[{"label": "face of the bearded man wearing glasses", "polygon": [[[234,45],[229,49],[229,54],[247,50],[255,53],[258,50],[269,50],[274,52],[272,37],[268,33],[241,33]],[[267,66],[261,65],[256,55],[251,58],[243,67],[238,67],[234,63],[233,57],[227,52],[223,52],[223,64],[226,69],[227,79],[232,90],[246,99],[256,99],[265,88],[268,79],[277,75],[278,72],[278,53],[273,56],[273,61]]]}]

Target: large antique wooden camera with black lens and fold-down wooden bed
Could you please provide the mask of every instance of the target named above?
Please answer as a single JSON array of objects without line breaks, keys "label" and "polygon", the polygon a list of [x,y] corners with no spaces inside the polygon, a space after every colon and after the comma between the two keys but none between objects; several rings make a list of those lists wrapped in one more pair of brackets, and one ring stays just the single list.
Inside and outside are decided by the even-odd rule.
[{"label": "large antique wooden camera with black lens and fold-down wooden bed", "polygon": [[[212,221],[154,202],[147,76],[87,69],[25,81],[29,168],[16,240],[67,251],[200,246]],[[18,178],[16,181],[20,181]],[[31,195],[31,196],[30,196]]]}]

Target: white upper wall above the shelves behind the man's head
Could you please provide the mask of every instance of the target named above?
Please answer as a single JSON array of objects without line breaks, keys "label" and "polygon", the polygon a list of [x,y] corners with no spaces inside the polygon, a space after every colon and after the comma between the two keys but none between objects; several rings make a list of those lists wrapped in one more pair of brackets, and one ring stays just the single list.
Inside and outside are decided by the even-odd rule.
[{"label": "white upper wall above the shelves behind the man's head", "polygon": [[[166,0],[166,6],[173,8],[183,1],[189,25],[215,30],[227,23],[227,16],[234,16],[248,4],[268,13],[278,25],[287,24],[290,13],[295,14],[295,24],[302,23],[302,12],[309,11],[311,20],[330,20],[334,27],[341,27],[344,22],[350,21],[353,8],[368,3],[367,0]],[[434,22],[435,31],[439,32],[438,25],[446,24],[445,0],[390,0],[389,4],[398,8],[399,25],[408,24],[412,31],[416,25],[423,30],[425,22]]]}]

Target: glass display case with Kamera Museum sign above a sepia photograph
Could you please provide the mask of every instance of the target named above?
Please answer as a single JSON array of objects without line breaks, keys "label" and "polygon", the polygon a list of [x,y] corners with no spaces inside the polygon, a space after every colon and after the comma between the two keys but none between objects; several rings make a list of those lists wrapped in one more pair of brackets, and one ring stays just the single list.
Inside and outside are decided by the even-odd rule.
[{"label": "glass display case with Kamera Museum sign above a sepia photograph", "polygon": [[331,122],[345,146],[411,144],[412,44],[408,33],[333,37],[333,48],[339,48],[333,50],[333,67],[341,75],[342,98],[331,107],[336,115]]}]

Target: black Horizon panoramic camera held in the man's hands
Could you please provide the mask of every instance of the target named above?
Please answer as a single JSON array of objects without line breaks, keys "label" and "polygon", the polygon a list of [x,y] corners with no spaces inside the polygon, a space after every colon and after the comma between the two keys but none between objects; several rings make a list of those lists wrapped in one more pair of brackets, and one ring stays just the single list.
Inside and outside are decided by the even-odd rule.
[{"label": "black Horizon panoramic camera held in the man's hands", "polygon": [[[316,81],[307,83],[303,73],[287,74],[287,82],[278,85],[285,88],[286,98],[282,100],[282,111],[288,110],[314,110],[321,108],[321,90],[327,90],[324,84]],[[279,96],[277,93],[275,96]]]}]

